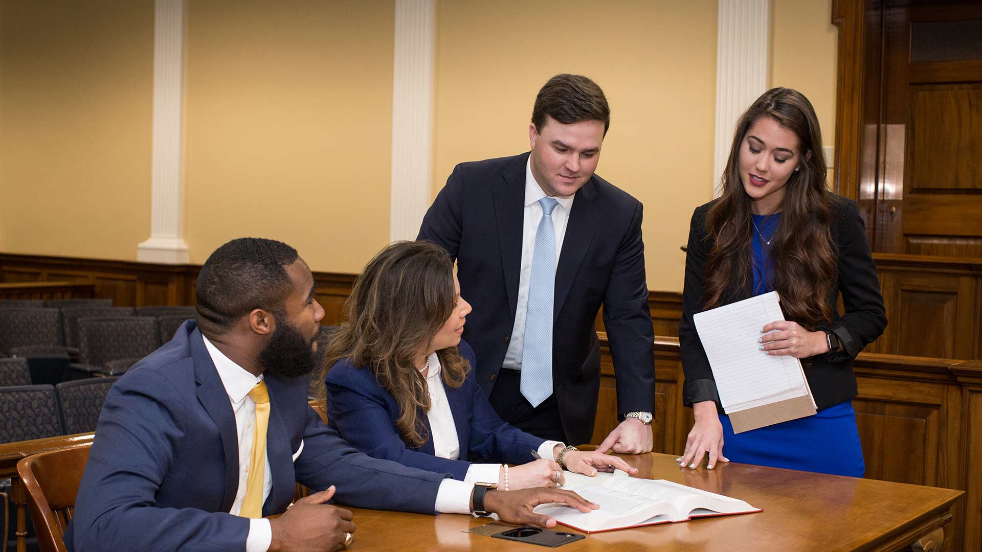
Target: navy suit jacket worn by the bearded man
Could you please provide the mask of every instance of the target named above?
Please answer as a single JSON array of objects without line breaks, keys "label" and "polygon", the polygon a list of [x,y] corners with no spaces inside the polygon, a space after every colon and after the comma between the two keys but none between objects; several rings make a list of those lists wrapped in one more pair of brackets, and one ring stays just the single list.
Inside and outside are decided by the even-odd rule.
[{"label": "navy suit jacket worn by the bearded man", "polygon": [[[363,508],[434,513],[437,474],[365,456],[309,407],[304,378],[266,374],[264,516],[295,481]],[[292,456],[300,449],[300,456]],[[249,521],[228,514],[239,485],[235,414],[193,320],[140,360],[106,397],[65,532],[69,550],[245,550]]]}]

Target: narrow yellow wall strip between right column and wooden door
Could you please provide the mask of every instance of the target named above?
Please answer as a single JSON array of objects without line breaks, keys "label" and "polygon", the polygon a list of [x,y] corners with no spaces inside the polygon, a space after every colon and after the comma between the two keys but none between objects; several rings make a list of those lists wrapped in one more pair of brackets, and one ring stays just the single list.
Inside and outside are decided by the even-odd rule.
[{"label": "narrow yellow wall strip between right column and wooden door", "polygon": [[818,115],[822,143],[834,145],[839,30],[832,0],[773,0],[772,9],[771,85],[804,94]]}]

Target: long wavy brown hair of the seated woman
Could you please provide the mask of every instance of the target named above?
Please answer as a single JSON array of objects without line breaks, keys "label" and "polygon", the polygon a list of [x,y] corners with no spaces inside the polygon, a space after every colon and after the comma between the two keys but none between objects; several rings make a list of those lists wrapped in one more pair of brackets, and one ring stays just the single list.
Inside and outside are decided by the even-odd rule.
[{"label": "long wavy brown hair of the seated woman", "polygon": [[[345,303],[346,320],[331,334],[317,396],[326,400],[324,376],[335,362],[351,359],[370,369],[399,405],[396,427],[418,447],[426,442],[419,412],[430,408],[426,379],[414,360],[424,354],[457,304],[454,262],[432,242],[395,242],[368,261]],[[470,365],[457,347],[437,351],[443,380],[464,383]]]}]

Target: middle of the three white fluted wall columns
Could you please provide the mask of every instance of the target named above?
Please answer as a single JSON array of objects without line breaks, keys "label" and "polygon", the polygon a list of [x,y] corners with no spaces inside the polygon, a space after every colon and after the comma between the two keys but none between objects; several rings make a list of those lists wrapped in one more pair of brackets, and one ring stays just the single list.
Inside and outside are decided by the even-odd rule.
[{"label": "middle of the three white fluted wall columns", "polygon": [[415,240],[430,203],[436,0],[396,0],[390,240]]}]

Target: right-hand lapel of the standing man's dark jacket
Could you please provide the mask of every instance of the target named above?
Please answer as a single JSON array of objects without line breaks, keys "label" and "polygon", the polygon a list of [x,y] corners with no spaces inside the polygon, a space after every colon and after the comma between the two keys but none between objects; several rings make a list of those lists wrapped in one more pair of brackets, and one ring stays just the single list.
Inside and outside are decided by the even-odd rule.
[{"label": "right-hand lapel of the standing man's dark jacket", "polygon": [[553,323],[563,310],[566,297],[573,287],[573,278],[583,263],[593,235],[600,224],[600,209],[593,204],[597,189],[591,177],[582,188],[576,192],[573,199],[573,209],[566,224],[566,236],[563,238],[563,249],[560,251],[559,264],[556,267],[556,295],[553,300]]}]

